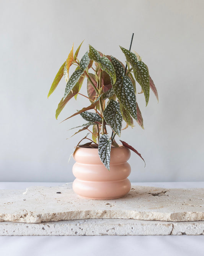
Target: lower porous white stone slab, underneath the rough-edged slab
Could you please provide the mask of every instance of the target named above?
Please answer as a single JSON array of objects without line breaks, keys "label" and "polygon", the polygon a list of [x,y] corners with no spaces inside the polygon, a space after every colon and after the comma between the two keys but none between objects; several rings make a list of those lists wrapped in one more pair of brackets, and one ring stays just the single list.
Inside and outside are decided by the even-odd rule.
[{"label": "lower porous white stone slab, underneath the rough-edged slab", "polygon": [[204,221],[83,219],[42,223],[1,222],[1,236],[200,235]]}]

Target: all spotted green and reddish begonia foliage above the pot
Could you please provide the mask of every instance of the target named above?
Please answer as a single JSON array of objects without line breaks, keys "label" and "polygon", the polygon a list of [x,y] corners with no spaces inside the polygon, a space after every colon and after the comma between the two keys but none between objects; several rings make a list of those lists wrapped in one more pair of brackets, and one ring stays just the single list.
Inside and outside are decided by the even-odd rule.
[{"label": "all spotted green and reddish begonia foliage above the pot", "polygon": [[[144,93],[146,106],[149,102],[150,88],[157,100],[158,92],[149,75],[147,65],[142,62],[138,53],[133,53],[126,48],[120,47],[126,57],[126,70],[123,63],[118,59],[98,52],[91,45],[89,45],[89,51],[87,51],[79,61],[78,53],[82,43],[78,46],[75,54],[73,54],[72,45],[67,60],[60,67],[54,78],[48,97],[55,90],[64,75],[66,82],[65,93],[58,104],[55,115],[56,118],[73,97],[77,99],[77,95],[81,95],[88,98],[91,105],[81,108],[65,120],[80,115],[88,122],[74,127],[80,128],[74,135],[84,130],[90,131],[92,135],[91,139],[88,138],[90,133],[82,139],[89,140],[84,146],[91,147],[91,143],[97,144],[100,159],[104,166],[110,170],[111,147],[118,147],[115,136],[118,135],[120,137],[121,130],[126,129],[128,126],[133,128],[133,120],[136,120],[139,126],[144,129],[142,114],[136,100],[136,84],[139,83],[142,88],[141,93]],[[69,76],[71,65],[77,65],[77,68],[73,71],[72,75]],[[87,78],[86,85],[88,96],[79,93],[85,77]],[[123,121],[126,125],[122,129]],[[110,137],[108,136],[108,126],[112,131]],[[80,140],[77,146],[82,140]],[[132,146],[122,140],[121,143],[142,158],[140,153],[138,153]],[[142,160],[144,159],[142,158]]]}]

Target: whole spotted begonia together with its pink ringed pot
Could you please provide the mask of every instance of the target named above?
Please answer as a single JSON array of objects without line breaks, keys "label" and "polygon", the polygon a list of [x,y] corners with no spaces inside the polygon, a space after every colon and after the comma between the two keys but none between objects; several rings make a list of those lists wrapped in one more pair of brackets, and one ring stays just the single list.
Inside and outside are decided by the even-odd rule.
[{"label": "whole spotted begonia together with its pink ringed pot", "polygon": [[[126,67],[117,58],[103,55],[91,45],[89,45],[89,51],[81,60],[78,60],[82,43],[75,54],[73,54],[72,45],[67,60],[54,78],[48,97],[64,75],[65,93],[57,107],[56,118],[73,97],[77,99],[77,95],[80,95],[90,101],[86,107],[65,119],[80,115],[86,122],[75,127],[80,128],[75,134],[84,130],[89,131],[72,152],[76,160],[73,166],[73,174],[76,177],[73,190],[85,198],[119,198],[131,189],[131,183],[127,179],[131,171],[127,163],[130,150],[140,158],[142,156],[122,140],[120,140],[122,145],[119,145],[115,136],[120,137],[121,130],[128,126],[133,127],[133,120],[144,128],[143,118],[136,101],[136,81],[142,88],[141,93],[145,96],[146,106],[150,88],[158,100],[157,89],[149,76],[147,65],[142,62],[136,52],[120,47],[127,60]],[[76,65],[76,69],[69,76],[71,65]],[[87,96],[80,93],[85,78],[87,78]],[[123,121],[126,126],[122,129]],[[88,143],[81,145],[80,143],[85,139]]]}]

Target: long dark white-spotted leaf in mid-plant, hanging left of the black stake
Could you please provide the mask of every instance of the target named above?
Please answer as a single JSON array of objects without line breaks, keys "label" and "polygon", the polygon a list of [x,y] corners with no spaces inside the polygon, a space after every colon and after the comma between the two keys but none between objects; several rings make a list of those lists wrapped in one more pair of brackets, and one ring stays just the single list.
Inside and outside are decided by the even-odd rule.
[{"label": "long dark white-spotted leaf in mid-plant, hanging left of the black stake", "polygon": [[113,85],[113,90],[120,103],[137,120],[136,95],[132,81],[129,76],[124,76],[125,70],[121,63],[112,56],[111,60],[116,70],[116,83]]}]

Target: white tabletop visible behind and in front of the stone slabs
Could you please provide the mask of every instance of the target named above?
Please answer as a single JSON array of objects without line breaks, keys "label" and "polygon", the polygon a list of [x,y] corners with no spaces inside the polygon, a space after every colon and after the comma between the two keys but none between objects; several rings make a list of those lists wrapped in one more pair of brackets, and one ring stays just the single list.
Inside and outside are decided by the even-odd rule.
[{"label": "white tabletop visible behind and in front of the stone slabs", "polygon": [[[0,182],[0,189],[64,183]],[[162,188],[204,188],[204,182],[132,183]],[[203,256],[204,236],[1,236],[0,256]]]}]

